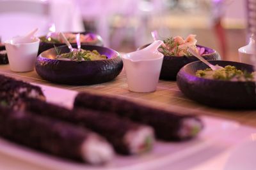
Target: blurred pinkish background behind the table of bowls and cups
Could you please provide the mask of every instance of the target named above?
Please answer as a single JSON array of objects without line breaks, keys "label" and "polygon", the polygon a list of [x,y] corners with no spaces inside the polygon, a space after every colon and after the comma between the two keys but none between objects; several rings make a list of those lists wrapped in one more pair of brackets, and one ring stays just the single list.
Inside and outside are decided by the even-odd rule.
[{"label": "blurred pinkish background behind the table of bowls and cups", "polygon": [[248,39],[248,2],[253,0],[0,0],[2,41],[26,34],[52,31],[92,31],[104,45],[131,52],[153,41],[196,34],[199,45],[238,60],[237,49]]}]

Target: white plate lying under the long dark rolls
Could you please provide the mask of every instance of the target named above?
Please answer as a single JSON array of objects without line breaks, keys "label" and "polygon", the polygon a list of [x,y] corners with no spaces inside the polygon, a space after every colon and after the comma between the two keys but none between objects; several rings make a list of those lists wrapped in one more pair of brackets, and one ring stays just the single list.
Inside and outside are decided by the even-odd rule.
[{"label": "white plate lying under the long dark rolls", "polygon": [[[77,92],[40,85],[47,101],[72,108]],[[36,152],[24,146],[15,145],[0,139],[0,169],[61,169],[61,170],[127,170],[127,169],[193,169],[207,167],[205,162],[218,164],[223,160],[216,159],[221,153],[230,151],[230,147],[247,138],[255,129],[243,127],[236,122],[202,117],[205,128],[198,138],[181,143],[157,141],[152,152],[124,157],[116,155],[115,159],[105,166],[90,166],[70,160],[59,159],[45,153]],[[232,134],[232,136],[230,136]],[[15,162],[15,164],[13,164]],[[222,164],[218,166],[223,167]],[[219,168],[220,169],[220,168]]]}]

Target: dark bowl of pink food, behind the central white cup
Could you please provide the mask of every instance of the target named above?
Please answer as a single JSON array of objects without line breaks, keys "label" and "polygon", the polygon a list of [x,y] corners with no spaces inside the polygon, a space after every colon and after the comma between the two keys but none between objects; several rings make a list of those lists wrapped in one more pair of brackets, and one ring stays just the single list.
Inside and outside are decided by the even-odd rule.
[{"label": "dark bowl of pink food, behind the central white cup", "polygon": [[[145,48],[148,45],[141,46],[138,50]],[[220,54],[211,48],[196,45],[200,48],[204,47],[207,54],[203,54],[202,57],[206,60],[220,60]],[[198,60],[196,57],[177,57],[177,56],[164,56],[163,65],[161,68],[160,78],[163,80],[176,80],[177,73],[179,70],[188,64],[189,62],[194,62]]]}]

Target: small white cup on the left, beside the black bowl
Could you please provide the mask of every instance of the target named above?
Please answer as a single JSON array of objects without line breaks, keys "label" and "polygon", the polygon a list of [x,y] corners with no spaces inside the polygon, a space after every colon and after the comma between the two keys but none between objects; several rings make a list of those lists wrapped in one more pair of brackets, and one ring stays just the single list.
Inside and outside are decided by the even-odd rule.
[{"label": "small white cup on the left, beside the black bowl", "polygon": [[5,41],[10,69],[15,72],[33,71],[40,39],[20,37]]}]

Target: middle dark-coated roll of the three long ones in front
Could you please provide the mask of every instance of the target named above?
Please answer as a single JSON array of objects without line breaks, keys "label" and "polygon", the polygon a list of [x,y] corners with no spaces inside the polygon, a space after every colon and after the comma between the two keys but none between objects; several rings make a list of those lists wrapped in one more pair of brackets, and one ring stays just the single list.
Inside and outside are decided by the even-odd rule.
[{"label": "middle dark-coated roll of the three long ones in front", "polygon": [[116,152],[125,155],[148,151],[154,142],[154,132],[151,127],[115,115],[100,113],[102,111],[81,109],[71,111],[36,99],[24,99],[16,108],[82,125],[104,136]]}]

